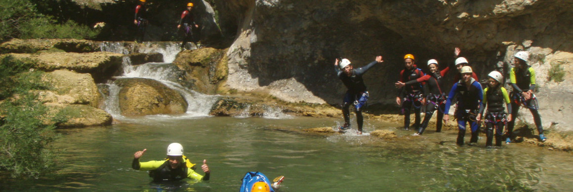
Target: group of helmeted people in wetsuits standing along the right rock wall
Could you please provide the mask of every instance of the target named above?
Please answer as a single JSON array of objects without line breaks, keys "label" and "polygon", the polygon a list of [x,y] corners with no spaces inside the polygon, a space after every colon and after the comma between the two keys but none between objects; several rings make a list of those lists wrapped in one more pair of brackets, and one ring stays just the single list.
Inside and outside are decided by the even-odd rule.
[{"label": "group of helmeted people in wetsuits standing along the right rock wall", "polygon": [[[493,138],[496,140],[496,146],[501,146],[504,137],[506,143],[512,142],[513,127],[515,126],[513,120],[517,116],[520,106],[524,106],[533,114],[540,141],[546,141],[547,138],[543,135],[541,118],[537,111],[539,106],[537,106],[533,94],[535,70],[527,65],[529,54],[525,51],[519,51],[515,54],[513,59],[515,67],[511,69],[509,78],[513,91],[508,94],[503,86],[504,77],[499,71],[492,71],[488,74],[487,87],[482,89],[476,73],[468,65],[468,60],[459,57],[460,52],[461,50],[456,48],[454,50],[455,62],[442,70],[439,70],[436,59],[427,61],[428,74],[423,73],[422,69],[419,69],[415,64],[414,55],[407,54],[404,56],[404,69],[400,71],[399,81],[395,83],[399,89],[396,103],[401,106],[401,113],[404,115],[403,128],[405,130],[410,129],[410,113],[413,109],[415,114],[413,126],[416,131],[413,135],[421,135],[426,130],[434,112],[438,111],[436,132],[441,132],[442,121],[448,123],[450,107],[456,105],[454,117],[458,123],[456,141],[458,145],[464,145],[467,124],[470,125],[472,131],[470,143],[477,143],[478,130],[481,121],[484,121],[486,146],[492,146]],[[358,134],[362,134],[362,110],[369,97],[362,75],[376,63],[382,62],[382,56],[378,56],[374,62],[354,69],[348,59],[336,59],[337,77],[348,89],[343,99],[344,125],[340,127],[340,131],[350,129],[349,108],[350,105],[354,104]],[[446,92],[448,89],[444,87],[444,77],[451,67],[455,67],[459,73],[454,75],[454,85],[449,92]],[[504,108],[507,109],[507,113]],[[422,109],[425,109],[423,121],[421,121],[420,115]],[[507,129],[504,131],[506,123]]]}]

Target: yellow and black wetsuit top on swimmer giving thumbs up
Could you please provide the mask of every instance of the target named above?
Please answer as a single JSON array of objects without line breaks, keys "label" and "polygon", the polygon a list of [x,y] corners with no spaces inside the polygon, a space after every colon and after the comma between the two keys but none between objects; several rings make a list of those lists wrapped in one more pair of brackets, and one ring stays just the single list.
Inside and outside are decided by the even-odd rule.
[{"label": "yellow and black wetsuit top on swimmer giving thumbs up", "polygon": [[184,161],[178,169],[171,169],[168,160],[139,162],[139,159],[134,159],[131,166],[135,170],[150,171],[150,177],[153,178],[154,182],[179,181],[185,178],[197,179],[198,181],[209,180],[209,174],[203,177],[203,175],[187,167],[186,164],[187,162]]}]

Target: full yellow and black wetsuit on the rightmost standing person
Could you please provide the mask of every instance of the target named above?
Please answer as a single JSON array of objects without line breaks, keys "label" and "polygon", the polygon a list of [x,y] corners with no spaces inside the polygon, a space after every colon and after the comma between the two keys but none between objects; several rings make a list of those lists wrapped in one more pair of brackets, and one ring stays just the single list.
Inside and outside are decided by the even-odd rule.
[{"label": "full yellow and black wetsuit on the rightmost standing person", "polygon": [[[529,90],[535,90],[535,70],[529,66],[527,69],[519,69],[518,67],[513,67],[509,73],[509,80],[511,81],[511,86],[513,87],[513,91],[510,95],[512,99],[511,115],[513,116],[513,119],[516,119],[521,102],[521,93],[527,92]],[[543,134],[543,126],[541,125],[541,115],[539,115],[539,111],[529,107],[528,109],[533,115],[533,121],[535,122],[535,126],[537,126],[539,135]],[[513,137],[513,126],[515,126],[515,121],[508,122],[507,129],[509,139]]]}]

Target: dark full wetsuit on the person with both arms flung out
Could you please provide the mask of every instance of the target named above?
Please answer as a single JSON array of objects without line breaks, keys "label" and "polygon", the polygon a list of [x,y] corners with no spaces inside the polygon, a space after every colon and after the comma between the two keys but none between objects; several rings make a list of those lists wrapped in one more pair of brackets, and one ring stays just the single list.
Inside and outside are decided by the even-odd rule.
[{"label": "dark full wetsuit on the person with both arms flung out", "polygon": [[358,131],[362,132],[363,117],[362,109],[366,107],[366,101],[368,100],[368,91],[366,90],[366,85],[364,85],[364,79],[362,75],[368,71],[372,66],[376,65],[376,61],[368,63],[364,67],[359,67],[358,69],[352,70],[352,75],[344,74],[338,66],[335,66],[336,75],[342,81],[344,86],[346,86],[346,94],[344,94],[342,113],[344,114],[344,124],[350,125],[350,110],[348,109],[351,104],[354,104],[356,109],[356,123],[358,123]]}]

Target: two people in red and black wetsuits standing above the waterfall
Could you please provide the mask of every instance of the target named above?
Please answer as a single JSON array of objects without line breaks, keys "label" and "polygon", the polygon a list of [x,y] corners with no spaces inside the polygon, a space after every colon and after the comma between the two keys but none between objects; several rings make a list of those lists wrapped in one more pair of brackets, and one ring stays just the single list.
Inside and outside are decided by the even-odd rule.
[{"label": "two people in red and black wetsuits standing above the waterfall", "polygon": [[[199,28],[199,25],[195,23],[193,17],[193,3],[187,3],[187,9],[183,10],[181,17],[179,19],[179,24],[177,25],[177,30],[182,31],[182,42],[181,49],[185,49],[187,42],[194,42],[197,45],[198,37],[195,37],[193,31]],[[135,35],[135,42],[143,42],[143,37],[145,36],[146,27],[148,24],[148,14],[147,14],[146,0],[139,0],[139,5],[135,6],[135,19],[134,24],[137,26],[137,33]]]}]

